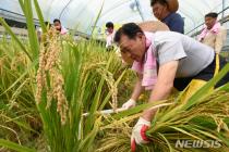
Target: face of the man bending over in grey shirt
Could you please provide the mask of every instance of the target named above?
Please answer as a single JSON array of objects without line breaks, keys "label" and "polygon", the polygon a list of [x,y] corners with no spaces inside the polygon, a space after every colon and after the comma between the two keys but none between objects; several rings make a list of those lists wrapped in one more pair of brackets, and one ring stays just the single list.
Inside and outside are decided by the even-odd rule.
[{"label": "face of the man bending over in grey shirt", "polygon": [[145,36],[140,33],[134,39],[130,39],[128,36],[122,35],[120,50],[125,56],[142,62],[145,54]]}]

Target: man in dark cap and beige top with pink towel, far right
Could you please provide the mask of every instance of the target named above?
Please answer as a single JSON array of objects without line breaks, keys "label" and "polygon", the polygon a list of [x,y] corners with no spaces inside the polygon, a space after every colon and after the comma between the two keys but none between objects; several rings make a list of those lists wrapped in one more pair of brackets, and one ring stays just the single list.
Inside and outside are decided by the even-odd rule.
[{"label": "man in dark cap and beige top with pink towel, far right", "polygon": [[212,47],[217,54],[220,53],[227,38],[227,29],[217,22],[218,14],[210,12],[205,15],[206,27],[198,35],[198,41]]}]

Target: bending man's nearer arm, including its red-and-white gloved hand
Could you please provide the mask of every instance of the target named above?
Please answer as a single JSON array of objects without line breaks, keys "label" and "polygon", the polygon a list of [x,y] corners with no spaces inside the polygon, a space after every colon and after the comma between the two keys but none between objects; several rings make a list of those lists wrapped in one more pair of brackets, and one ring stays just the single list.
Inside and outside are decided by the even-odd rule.
[{"label": "bending man's nearer arm, including its red-and-white gloved hand", "polygon": [[[178,61],[170,61],[159,67],[158,80],[152,91],[149,102],[166,99],[173,87],[173,80],[178,68]],[[146,130],[150,126],[152,117],[157,110],[145,110],[137,121],[131,135],[131,149],[135,150],[135,143],[148,143]]]}]

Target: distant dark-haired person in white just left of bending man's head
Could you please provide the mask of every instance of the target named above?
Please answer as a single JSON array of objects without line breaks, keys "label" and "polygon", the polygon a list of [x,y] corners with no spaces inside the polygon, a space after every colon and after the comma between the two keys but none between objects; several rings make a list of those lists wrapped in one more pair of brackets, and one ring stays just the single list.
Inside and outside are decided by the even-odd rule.
[{"label": "distant dark-haired person in white just left of bending man's head", "polygon": [[107,31],[107,37],[106,37],[106,48],[108,51],[113,50],[113,37],[114,37],[114,27],[112,22],[106,23],[106,31]]}]

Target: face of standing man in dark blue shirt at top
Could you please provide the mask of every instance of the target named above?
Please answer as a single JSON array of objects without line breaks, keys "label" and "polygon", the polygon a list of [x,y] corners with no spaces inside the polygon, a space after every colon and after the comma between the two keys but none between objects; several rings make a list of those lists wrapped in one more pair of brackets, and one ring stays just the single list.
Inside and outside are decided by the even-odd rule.
[{"label": "face of standing man in dark blue shirt at top", "polygon": [[160,4],[159,2],[155,3],[153,5],[153,13],[154,13],[154,16],[156,18],[158,18],[159,21],[161,21],[164,18],[164,13],[165,13],[165,10],[167,9],[166,5],[162,5]]}]

